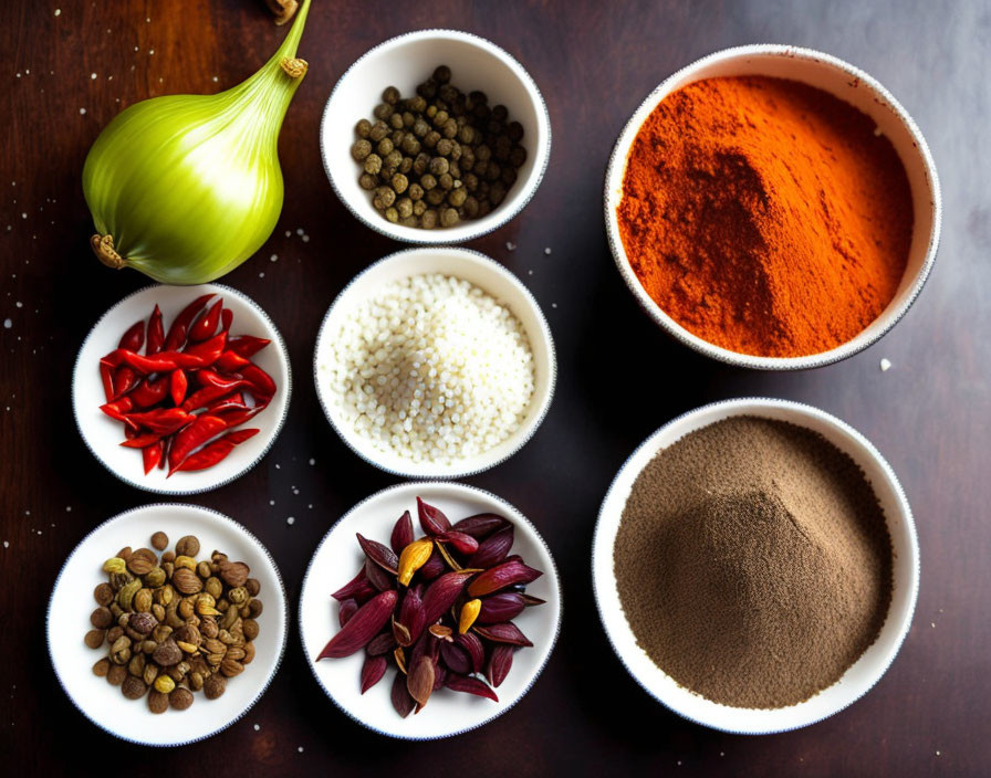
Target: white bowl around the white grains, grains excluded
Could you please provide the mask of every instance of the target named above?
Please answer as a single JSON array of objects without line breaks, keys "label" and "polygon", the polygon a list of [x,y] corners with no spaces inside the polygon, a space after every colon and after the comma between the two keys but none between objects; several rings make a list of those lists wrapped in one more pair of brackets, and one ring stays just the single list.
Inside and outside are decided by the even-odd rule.
[{"label": "white bowl around the white grains, grains excluded", "polygon": [[[371,440],[354,431],[336,407],[331,391],[330,365],[332,339],[351,313],[393,281],[413,275],[442,273],[463,278],[494,297],[520,319],[533,351],[534,387],[530,409],[520,428],[502,443],[474,456],[451,464],[414,462],[392,451],[377,449]],[[409,479],[461,479],[494,467],[523,448],[540,427],[554,395],[557,362],[554,341],[540,306],[517,276],[494,260],[468,249],[407,249],[379,260],[356,275],[344,287],[320,325],[313,356],[316,395],[331,427],[358,456],[387,473]]]}]

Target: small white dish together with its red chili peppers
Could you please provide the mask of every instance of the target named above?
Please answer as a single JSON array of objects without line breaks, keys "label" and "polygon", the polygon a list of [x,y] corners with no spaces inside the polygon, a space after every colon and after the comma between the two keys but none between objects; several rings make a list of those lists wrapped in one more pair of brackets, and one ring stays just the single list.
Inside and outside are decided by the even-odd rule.
[{"label": "small white dish together with its red chili peppers", "polygon": [[261,460],[290,390],[285,344],[257,303],[220,284],[156,285],[86,336],[72,402],[83,441],[118,479],[195,494]]}]

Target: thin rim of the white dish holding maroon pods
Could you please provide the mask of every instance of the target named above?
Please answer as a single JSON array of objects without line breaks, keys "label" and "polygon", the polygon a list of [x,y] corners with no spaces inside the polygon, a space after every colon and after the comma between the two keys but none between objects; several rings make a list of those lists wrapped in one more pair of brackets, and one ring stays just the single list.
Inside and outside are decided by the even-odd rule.
[{"label": "thin rim of the white dish holding maroon pods", "polygon": [[546,554],[547,559],[551,563],[550,569],[544,570],[544,575],[545,576],[549,574],[553,575],[554,581],[557,584],[557,619],[554,623],[554,634],[551,638],[550,644],[547,646],[546,656],[544,656],[544,660],[533,671],[533,674],[531,675],[529,682],[526,683],[525,688],[523,688],[523,691],[520,692],[520,695],[515,700],[513,700],[511,703],[500,702],[500,703],[498,703],[498,705],[500,706],[499,709],[493,712],[491,716],[488,716],[487,718],[482,719],[481,722],[478,722],[477,724],[472,724],[471,726],[462,727],[461,729],[458,729],[458,730],[451,732],[451,733],[447,733],[444,735],[417,736],[417,735],[403,735],[403,734],[386,732],[385,729],[379,729],[378,727],[375,727],[372,724],[368,724],[367,722],[362,721],[355,714],[353,714],[350,709],[347,709],[343,704],[341,704],[337,701],[337,697],[335,697],[331,693],[331,691],[324,685],[321,677],[316,674],[316,663],[313,660],[311,660],[309,655],[306,655],[305,639],[303,638],[303,591],[306,589],[306,584],[310,580],[310,571],[313,569],[313,563],[316,560],[316,555],[320,553],[321,548],[323,548],[323,545],[330,540],[331,535],[334,533],[334,529],[336,529],[338,524],[341,524],[343,521],[348,518],[353,513],[355,513],[358,508],[364,507],[367,503],[372,502],[373,500],[377,500],[387,494],[390,494],[393,492],[398,492],[401,490],[416,490],[419,486],[421,486],[423,483],[424,482],[419,482],[419,481],[405,481],[405,482],[401,482],[398,484],[393,484],[392,486],[386,486],[385,488],[382,488],[377,492],[374,492],[373,494],[369,494],[367,497],[355,503],[352,507],[350,507],[347,511],[345,511],[343,514],[341,514],[341,517],[337,518],[337,521],[334,522],[327,528],[326,533],[324,533],[324,536],[320,539],[320,543],[316,544],[316,548],[313,550],[313,554],[310,557],[310,561],[306,563],[306,571],[303,574],[303,580],[300,584],[300,596],[298,598],[299,602],[296,604],[296,624],[298,624],[298,629],[300,632],[300,650],[303,651],[303,654],[304,654],[303,659],[306,662],[306,666],[310,667],[310,672],[313,674],[313,679],[316,681],[316,684],[320,686],[320,688],[323,691],[323,693],[327,696],[327,698],[332,703],[334,703],[334,705],[337,707],[337,709],[341,711],[342,713],[344,713],[350,719],[352,719],[356,724],[362,725],[366,729],[371,729],[376,735],[385,735],[386,737],[393,737],[397,740],[409,740],[409,742],[414,742],[414,743],[424,743],[424,742],[429,742],[429,740],[441,740],[441,739],[445,739],[448,737],[456,737],[458,735],[463,735],[465,733],[472,732],[474,729],[478,729],[479,727],[486,726],[490,722],[493,722],[494,719],[502,716],[504,713],[508,713],[510,709],[512,709],[517,705],[517,703],[519,703],[523,697],[525,697],[530,693],[530,690],[533,688],[533,685],[536,683],[536,680],[541,676],[541,674],[543,674],[544,669],[547,666],[547,663],[551,661],[551,656],[553,655],[554,649],[557,645],[557,638],[561,635],[561,621],[564,617],[564,593],[563,593],[562,586],[561,586],[561,575],[557,572],[557,563],[554,560],[554,555],[551,553],[551,547],[547,545],[547,542],[544,539],[543,535],[540,534],[540,530],[536,528],[536,525],[533,524],[533,522],[531,522],[526,517],[526,515],[522,511],[520,511],[515,505],[510,503],[508,500],[500,497],[498,494],[493,494],[492,492],[489,492],[488,490],[481,488],[479,486],[472,486],[471,484],[462,484],[457,481],[430,481],[429,482],[430,486],[439,487],[439,488],[449,488],[455,492],[460,491],[462,494],[467,493],[467,495],[469,497],[479,497],[479,496],[486,497],[486,498],[491,500],[500,505],[505,506],[508,508],[507,513],[509,513],[510,516],[512,516],[512,518],[514,521],[517,518],[522,518],[523,519],[522,522],[517,522],[517,523],[522,524],[526,529],[529,529],[529,532],[531,532],[533,534],[533,537],[540,542],[540,545],[543,546],[544,553]]}]

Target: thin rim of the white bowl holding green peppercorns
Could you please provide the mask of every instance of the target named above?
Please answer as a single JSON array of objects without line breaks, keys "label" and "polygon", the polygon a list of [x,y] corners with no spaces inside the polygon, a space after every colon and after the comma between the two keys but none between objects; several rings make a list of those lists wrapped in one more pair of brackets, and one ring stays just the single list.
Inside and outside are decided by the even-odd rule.
[{"label": "thin rim of the white bowl holding green peppercorns", "polygon": [[[543,114],[544,124],[546,125],[546,138],[543,140],[543,143],[538,144],[538,147],[543,149],[543,164],[539,169],[534,166],[534,174],[531,175],[531,182],[528,183],[525,195],[520,199],[519,204],[512,210],[507,210],[504,213],[500,213],[500,207],[497,207],[481,219],[472,219],[471,223],[477,224],[477,227],[474,229],[466,231],[466,233],[461,236],[445,236],[445,228],[438,228],[435,230],[424,230],[419,228],[400,228],[399,225],[394,225],[392,222],[386,221],[383,218],[368,218],[371,214],[366,214],[364,212],[364,209],[356,208],[354,203],[352,203],[351,199],[341,191],[340,187],[337,186],[337,181],[334,178],[334,174],[331,170],[328,155],[324,145],[324,127],[328,122],[331,103],[333,102],[334,96],[337,94],[337,90],[341,87],[341,84],[344,83],[344,80],[352,73],[352,71],[367,57],[372,56],[382,49],[395,46],[400,42],[406,42],[409,40],[429,40],[430,38],[440,38],[470,43],[494,55],[497,59],[502,60],[510,66],[510,70],[517,73],[520,81],[523,83],[523,86],[525,87],[530,99],[534,103],[534,106],[539,108],[538,114]],[[392,238],[393,240],[403,243],[414,243],[417,245],[455,245],[458,243],[467,243],[469,241],[481,238],[482,235],[487,235],[490,232],[494,232],[499,228],[505,225],[507,223],[515,219],[520,214],[520,212],[530,203],[534,195],[536,195],[536,190],[540,188],[540,185],[544,179],[544,175],[547,171],[547,166],[551,161],[551,114],[547,111],[546,101],[544,99],[543,94],[541,94],[541,91],[538,88],[536,82],[533,80],[533,76],[530,75],[526,69],[523,67],[523,65],[520,64],[520,62],[512,54],[510,54],[508,51],[493,43],[492,41],[482,38],[481,35],[476,35],[471,32],[465,32],[463,30],[453,30],[450,28],[424,28],[421,30],[411,30],[409,32],[404,32],[400,35],[395,35],[394,38],[389,38],[385,41],[382,41],[380,43],[377,43],[364,54],[362,54],[357,60],[348,65],[347,70],[345,70],[344,73],[341,74],[341,77],[337,78],[337,82],[334,84],[334,88],[331,90],[331,94],[327,97],[327,102],[323,108],[323,114],[321,115],[320,130],[317,135],[320,140],[320,158],[323,161],[324,174],[326,174],[327,180],[331,182],[331,188],[334,190],[337,199],[348,211],[351,211],[352,215],[354,215],[358,221],[365,224],[365,227],[374,230],[380,235]],[[540,138],[538,138],[538,140],[540,140]],[[534,149],[534,153],[536,153],[536,148]],[[372,207],[371,202],[368,203],[368,207]],[[408,234],[407,230],[409,230],[409,232],[411,232],[413,234]],[[417,232],[421,232],[424,234],[416,234]]]}]

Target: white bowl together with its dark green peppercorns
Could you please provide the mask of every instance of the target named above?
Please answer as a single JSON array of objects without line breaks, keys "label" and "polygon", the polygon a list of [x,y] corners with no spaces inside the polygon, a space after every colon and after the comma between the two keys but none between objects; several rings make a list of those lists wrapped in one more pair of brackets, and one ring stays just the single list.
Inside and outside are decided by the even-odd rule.
[{"label": "white bowl together with its dark green peppercorns", "polygon": [[410,243],[461,243],[530,201],[551,153],[543,97],[496,44],[420,30],[375,46],[341,76],[321,155],[345,207]]}]

